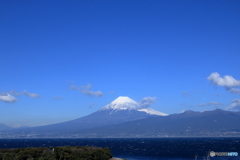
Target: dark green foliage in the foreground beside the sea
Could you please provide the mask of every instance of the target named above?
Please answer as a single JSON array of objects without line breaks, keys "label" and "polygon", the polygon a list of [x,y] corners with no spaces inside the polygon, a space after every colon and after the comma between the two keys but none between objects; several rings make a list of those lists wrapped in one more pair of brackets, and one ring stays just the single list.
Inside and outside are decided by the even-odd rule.
[{"label": "dark green foliage in the foreground beside the sea", "polygon": [[56,147],[0,149],[0,160],[108,160],[109,148]]}]

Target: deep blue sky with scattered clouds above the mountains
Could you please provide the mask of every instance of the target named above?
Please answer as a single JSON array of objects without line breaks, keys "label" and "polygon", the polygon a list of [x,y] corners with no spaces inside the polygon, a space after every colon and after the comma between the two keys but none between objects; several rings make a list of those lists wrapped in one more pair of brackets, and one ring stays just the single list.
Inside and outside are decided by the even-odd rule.
[{"label": "deep blue sky with scattered clouds above the mountains", "polygon": [[0,24],[0,123],[72,120],[118,96],[240,109],[238,0],[1,0]]}]

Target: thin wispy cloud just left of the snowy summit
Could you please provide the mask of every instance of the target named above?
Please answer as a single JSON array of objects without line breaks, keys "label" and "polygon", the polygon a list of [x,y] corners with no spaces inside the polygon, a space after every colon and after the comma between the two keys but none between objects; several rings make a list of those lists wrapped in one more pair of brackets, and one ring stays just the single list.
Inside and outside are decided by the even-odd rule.
[{"label": "thin wispy cloud just left of the snowy summit", "polygon": [[101,91],[91,91],[92,88],[91,84],[87,84],[86,86],[77,87],[76,85],[71,85],[70,89],[78,90],[79,92],[91,96],[91,97],[101,97],[103,93]]}]

